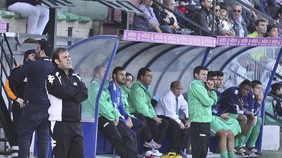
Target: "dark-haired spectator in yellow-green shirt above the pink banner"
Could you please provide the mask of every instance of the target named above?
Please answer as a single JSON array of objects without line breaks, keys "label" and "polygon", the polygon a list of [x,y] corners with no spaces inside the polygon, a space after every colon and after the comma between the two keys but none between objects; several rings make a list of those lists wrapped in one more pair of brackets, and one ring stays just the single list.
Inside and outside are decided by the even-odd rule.
[{"label": "dark-haired spectator in yellow-green shirt above the pink banner", "polygon": [[247,37],[251,37],[251,38],[264,37],[267,30],[266,25],[267,24],[265,20],[261,20],[261,19],[256,20],[255,31],[249,34]]}]

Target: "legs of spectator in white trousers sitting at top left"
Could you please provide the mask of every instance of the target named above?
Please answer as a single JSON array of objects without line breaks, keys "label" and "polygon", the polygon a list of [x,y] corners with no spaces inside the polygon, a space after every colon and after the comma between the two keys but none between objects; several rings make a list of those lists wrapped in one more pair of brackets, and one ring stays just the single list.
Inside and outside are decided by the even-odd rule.
[{"label": "legs of spectator in white trousers sitting at top left", "polygon": [[[49,9],[41,6],[41,0],[7,0],[6,7],[8,10],[19,13],[27,20],[27,34],[42,35],[46,24],[49,21]],[[36,40],[28,38],[26,43],[35,43]]]}]

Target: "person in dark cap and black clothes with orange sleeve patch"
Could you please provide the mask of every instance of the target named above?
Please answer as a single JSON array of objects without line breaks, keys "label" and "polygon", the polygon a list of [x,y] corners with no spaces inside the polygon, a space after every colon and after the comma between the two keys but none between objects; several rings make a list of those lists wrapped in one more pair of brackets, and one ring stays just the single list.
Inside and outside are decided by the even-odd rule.
[{"label": "person in dark cap and black clothes with orange sleeve patch", "polygon": [[9,77],[6,79],[5,90],[11,100],[12,113],[13,113],[13,131],[12,131],[12,143],[11,143],[11,157],[17,158],[19,152],[18,145],[18,133],[19,133],[19,123],[22,114],[22,109],[24,105],[26,78],[18,78],[17,72],[24,68],[27,64],[35,60],[35,49],[30,49],[25,52],[25,57],[23,64],[14,68]]}]

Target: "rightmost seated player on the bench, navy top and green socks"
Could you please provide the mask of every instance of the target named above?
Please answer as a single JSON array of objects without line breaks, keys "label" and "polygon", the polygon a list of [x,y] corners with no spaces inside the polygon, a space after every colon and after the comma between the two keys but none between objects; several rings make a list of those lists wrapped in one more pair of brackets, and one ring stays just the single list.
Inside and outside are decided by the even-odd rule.
[{"label": "rightmost seated player on the bench, navy top and green socks", "polygon": [[252,122],[252,125],[250,127],[250,130],[248,134],[246,135],[245,142],[249,140],[249,143],[247,145],[247,148],[252,152],[255,153],[256,155],[262,156],[262,153],[257,150],[256,148],[256,139],[259,135],[260,131],[260,126],[261,126],[261,118],[258,116],[258,110],[259,107],[261,106],[263,95],[262,95],[262,88],[261,88],[261,82],[254,80],[251,82],[252,83],[252,89],[248,93],[248,110],[254,113],[254,120]]}]

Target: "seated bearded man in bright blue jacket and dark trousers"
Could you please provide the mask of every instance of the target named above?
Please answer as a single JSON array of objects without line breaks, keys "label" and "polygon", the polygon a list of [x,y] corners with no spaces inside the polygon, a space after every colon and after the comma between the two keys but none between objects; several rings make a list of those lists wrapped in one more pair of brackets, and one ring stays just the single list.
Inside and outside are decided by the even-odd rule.
[{"label": "seated bearded man in bright blue jacket and dark trousers", "polygon": [[[116,67],[113,69],[112,73],[113,80],[109,82],[108,91],[111,95],[111,101],[113,103],[113,107],[119,113],[119,122],[125,124],[128,131],[131,133],[136,152],[138,153],[138,141],[137,136],[141,134],[141,131],[144,128],[144,123],[134,117],[130,117],[124,108],[124,104],[122,101],[122,91],[121,85],[125,83],[126,79],[126,70],[122,67]],[[138,136],[139,137],[139,136]]]}]

